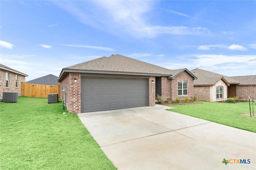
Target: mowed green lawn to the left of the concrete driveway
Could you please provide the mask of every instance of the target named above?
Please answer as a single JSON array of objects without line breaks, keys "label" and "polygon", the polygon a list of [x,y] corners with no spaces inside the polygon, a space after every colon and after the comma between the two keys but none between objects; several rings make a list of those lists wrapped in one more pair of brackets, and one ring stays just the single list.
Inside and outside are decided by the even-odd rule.
[{"label": "mowed green lawn to the left of the concrete driveway", "polygon": [[0,169],[116,169],[76,114],[62,102],[19,97],[0,102]]}]

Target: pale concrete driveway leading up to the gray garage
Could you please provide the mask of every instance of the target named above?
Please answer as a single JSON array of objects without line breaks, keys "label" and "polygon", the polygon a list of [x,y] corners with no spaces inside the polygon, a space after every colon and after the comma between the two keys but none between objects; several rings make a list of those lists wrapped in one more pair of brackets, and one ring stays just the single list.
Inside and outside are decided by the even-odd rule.
[{"label": "pale concrete driveway leading up to the gray garage", "polygon": [[[256,169],[256,133],[167,108],[157,105],[78,117],[120,170]],[[224,158],[230,161],[227,165]],[[238,164],[238,159],[246,163],[250,159],[250,164]]]}]

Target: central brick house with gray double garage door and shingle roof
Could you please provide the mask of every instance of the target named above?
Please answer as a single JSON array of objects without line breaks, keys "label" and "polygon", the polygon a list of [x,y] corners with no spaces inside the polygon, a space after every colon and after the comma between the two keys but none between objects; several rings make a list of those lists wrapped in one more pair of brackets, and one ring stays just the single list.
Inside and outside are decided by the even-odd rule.
[{"label": "central brick house with gray double garage door and shingle roof", "polygon": [[188,69],[169,70],[122,55],[100,57],[63,68],[58,82],[70,113],[155,106],[165,99],[194,96]]}]

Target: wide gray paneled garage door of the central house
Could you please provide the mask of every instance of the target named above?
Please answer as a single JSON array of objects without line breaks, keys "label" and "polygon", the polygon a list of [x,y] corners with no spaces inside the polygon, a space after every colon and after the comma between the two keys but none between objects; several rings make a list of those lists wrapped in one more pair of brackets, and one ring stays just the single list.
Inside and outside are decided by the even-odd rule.
[{"label": "wide gray paneled garage door of the central house", "polygon": [[146,79],[82,78],[82,113],[148,106]]}]

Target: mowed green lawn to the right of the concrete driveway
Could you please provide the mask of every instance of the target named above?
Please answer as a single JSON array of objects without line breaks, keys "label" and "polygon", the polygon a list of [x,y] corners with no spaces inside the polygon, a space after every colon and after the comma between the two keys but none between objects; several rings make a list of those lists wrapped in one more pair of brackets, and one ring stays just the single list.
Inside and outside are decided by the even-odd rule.
[{"label": "mowed green lawn to the right of the concrete driveway", "polygon": [[[246,131],[256,132],[256,118],[240,115],[241,113],[250,113],[249,102],[239,102],[236,104],[220,102],[202,103],[203,104],[175,105],[171,107],[175,107],[176,109],[168,110],[244,129]],[[256,114],[256,106],[254,106],[254,114]]]}]

